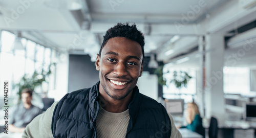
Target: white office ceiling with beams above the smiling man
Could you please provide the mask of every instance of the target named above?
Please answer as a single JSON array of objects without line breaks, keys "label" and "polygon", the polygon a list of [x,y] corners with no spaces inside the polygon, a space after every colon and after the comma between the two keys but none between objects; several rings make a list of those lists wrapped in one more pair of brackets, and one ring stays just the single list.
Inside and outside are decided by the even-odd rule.
[{"label": "white office ceiling with beams above the smiling man", "polygon": [[[135,22],[145,34],[145,53],[168,63],[195,48],[198,36],[225,35],[256,18],[255,8],[239,9],[240,2],[230,0],[77,0],[82,8],[73,11],[71,1],[0,0],[0,29],[20,31],[60,52],[95,55],[106,30],[117,22]],[[170,42],[175,35],[182,49]],[[174,54],[166,56],[170,49]],[[197,66],[197,60],[187,63]]]}]

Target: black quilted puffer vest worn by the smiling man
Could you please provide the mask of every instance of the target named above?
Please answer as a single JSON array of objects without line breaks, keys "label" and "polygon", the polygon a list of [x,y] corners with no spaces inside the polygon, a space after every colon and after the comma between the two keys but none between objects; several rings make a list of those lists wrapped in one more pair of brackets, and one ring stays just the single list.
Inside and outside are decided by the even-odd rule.
[{"label": "black quilted puffer vest worn by the smiling man", "polygon": [[[54,137],[97,137],[99,82],[91,88],[67,94],[56,105],[52,118]],[[171,122],[165,108],[134,88],[129,104],[130,121],[126,137],[170,137]]]}]

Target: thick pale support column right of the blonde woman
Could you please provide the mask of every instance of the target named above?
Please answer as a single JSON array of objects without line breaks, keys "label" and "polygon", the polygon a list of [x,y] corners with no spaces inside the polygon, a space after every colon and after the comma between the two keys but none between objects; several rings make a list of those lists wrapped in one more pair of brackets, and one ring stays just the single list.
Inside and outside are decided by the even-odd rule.
[{"label": "thick pale support column right of the blonde woman", "polygon": [[214,116],[219,125],[225,121],[223,94],[224,36],[210,34],[205,37],[205,115]]}]

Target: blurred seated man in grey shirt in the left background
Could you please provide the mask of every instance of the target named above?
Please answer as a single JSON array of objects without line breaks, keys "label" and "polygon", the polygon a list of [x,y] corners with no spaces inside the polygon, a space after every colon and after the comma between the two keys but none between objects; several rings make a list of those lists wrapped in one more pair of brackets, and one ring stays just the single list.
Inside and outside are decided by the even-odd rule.
[{"label": "blurred seated man in grey shirt in the left background", "polygon": [[29,88],[22,90],[22,102],[14,109],[11,116],[10,131],[22,133],[25,127],[42,111],[40,108],[32,105],[32,90]]}]

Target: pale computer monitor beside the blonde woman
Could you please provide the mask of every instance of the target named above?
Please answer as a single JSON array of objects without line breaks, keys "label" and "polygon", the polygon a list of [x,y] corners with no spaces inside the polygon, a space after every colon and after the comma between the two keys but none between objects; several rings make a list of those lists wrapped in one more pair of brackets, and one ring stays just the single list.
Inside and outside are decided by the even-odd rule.
[{"label": "pale computer monitor beside the blonde woman", "polygon": [[165,108],[172,115],[183,116],[184,99],[168,99],[165,102]]}]

